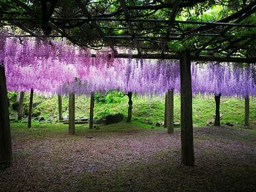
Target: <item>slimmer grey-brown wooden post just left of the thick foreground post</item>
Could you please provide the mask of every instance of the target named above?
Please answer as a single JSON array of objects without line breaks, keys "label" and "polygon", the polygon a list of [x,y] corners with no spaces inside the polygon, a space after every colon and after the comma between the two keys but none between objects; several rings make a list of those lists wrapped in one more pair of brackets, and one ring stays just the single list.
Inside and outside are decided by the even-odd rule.
[{"label": "slimmer grey-brown wooden post just left of the thick foreground post", "polygon": [[167,92],[167,133],[173,134],[173,90]]}]

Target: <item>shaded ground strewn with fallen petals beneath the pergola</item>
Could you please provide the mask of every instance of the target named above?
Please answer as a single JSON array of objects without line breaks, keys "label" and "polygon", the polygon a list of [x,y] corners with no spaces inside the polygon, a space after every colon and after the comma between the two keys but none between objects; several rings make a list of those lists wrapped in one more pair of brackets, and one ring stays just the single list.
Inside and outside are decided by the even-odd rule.
[{"label": "shaded ground strewn with fallen petals beneath the pergola", "polygon": [[13,164],[0,171],[0,191],[256,188],[255,129],[195,128],[195,166],[186,167],[180,163],[179,129],[167,135],[165,129],[122,122],[100,131],[79,126],[69,136],[62,125],[36,127],[12,125]]}]

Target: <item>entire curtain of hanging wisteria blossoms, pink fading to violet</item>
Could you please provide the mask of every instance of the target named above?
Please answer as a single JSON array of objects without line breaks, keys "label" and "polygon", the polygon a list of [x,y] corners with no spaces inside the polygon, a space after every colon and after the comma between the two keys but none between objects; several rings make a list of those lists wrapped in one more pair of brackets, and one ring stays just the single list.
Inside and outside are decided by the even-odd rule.
[{"label": "entire curtain of hanging wisteria blossoms, pink fading to violet", "polygon": [[[110,50],[97,51],[67,42],[6,38],[0,35],[0,61],[4,63],[9,91],[89,94],[110,90],[161,95],[180,91],[178,61],[113,58]],[[131,53],[129,53],[131,55]],[[192,64],[192,91],[202,94],[246,96],[256,94],[255,66]]]}]

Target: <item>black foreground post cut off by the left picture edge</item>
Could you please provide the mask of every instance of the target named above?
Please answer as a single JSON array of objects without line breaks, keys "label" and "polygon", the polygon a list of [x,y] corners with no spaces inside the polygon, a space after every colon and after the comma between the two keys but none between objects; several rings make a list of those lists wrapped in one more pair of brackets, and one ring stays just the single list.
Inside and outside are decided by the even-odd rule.
[{"label": "black foreground post cut off by the left picture edge", "polygon": [[9,107],[4,66],[0,64],[0,168],[12,163]]}]

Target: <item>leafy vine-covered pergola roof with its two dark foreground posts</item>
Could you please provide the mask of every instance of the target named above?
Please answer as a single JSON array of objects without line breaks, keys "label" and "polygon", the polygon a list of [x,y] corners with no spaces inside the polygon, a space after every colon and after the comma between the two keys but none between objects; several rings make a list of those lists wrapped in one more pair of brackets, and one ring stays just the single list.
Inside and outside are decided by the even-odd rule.
[{"label": "leafy vine-covered pergola roof with its two dark foreground posts", "polygon": [[[214,6],[221,7],[219,17],[210,12]],[[9,37],[65,37],[80,47],[110,47],[118,58],[179,59],[181,161],[191,166],[191,61],[255,63],[255,11],[256,0],[12,0],[0,2],[0,25],[22,29]],[[122,48],[133,54],[120,53]],[[7,91],[0,69],[0,163],[10,164]]]}]

